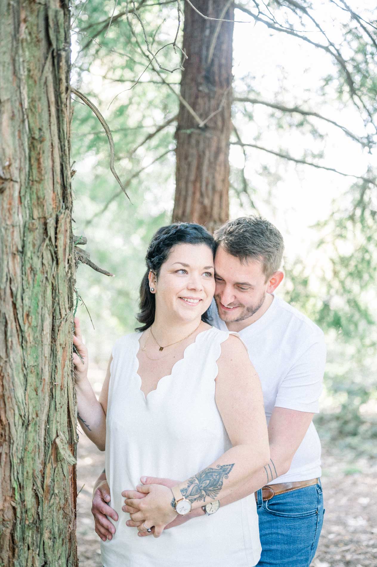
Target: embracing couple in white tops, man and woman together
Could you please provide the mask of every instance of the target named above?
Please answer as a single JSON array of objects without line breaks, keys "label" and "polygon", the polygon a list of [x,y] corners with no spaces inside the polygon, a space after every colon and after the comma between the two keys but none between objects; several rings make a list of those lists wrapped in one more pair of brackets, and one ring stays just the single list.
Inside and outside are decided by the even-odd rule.
[{"label": "embracing couple in white tops, man and woman together", "polygon": [[159,229],[139,327],[113,346],[99,401],[75,320],[78,418],[105,450],[92,507],[104,567],[309,567],[325,346],[274,295],[282,254],[259,217],[214,238],[194,223]]}]

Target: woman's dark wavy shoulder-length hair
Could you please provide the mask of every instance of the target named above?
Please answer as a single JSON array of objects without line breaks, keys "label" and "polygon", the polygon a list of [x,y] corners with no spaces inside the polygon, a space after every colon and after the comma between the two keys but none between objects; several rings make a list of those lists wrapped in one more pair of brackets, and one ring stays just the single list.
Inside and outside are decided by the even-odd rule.
[{"label": "woman's dark wavy shoulder-length hair", "polygon": [[[142,323],[141,327],[136,327],[135,331],[145,331],[154,321],[155,317],[155,296],[149,289],[149,272],[153,272],[158,278],[162,264],[168,259],[171,249],[176,244],[206,244],[213,255],[215,254],[216,244],[213,236],[204,226],[196,225],[191,222],[179,222],[172,225],[162,226],[152,237],[145,263],[147,271],[140,285],[139,312],[136,319]],[[208,323],[210,320],[208,310],[202,315],[202,321]]]}]

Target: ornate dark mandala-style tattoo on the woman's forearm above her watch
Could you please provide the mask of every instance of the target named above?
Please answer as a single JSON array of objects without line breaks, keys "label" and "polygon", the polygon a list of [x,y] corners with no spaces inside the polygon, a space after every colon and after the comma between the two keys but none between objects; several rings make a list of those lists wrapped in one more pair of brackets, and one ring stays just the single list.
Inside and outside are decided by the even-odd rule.
[{"label": "ornate dark mandala-style tattoo on the woman's forearm above her watch", "polygon": [[222,489],[223,480],[228,478],[233,467],[234,463],[205,468],[188,480],[187,486],[181,488],[181,493],[190,502],[205,502],[206,498],[216,500]]}]

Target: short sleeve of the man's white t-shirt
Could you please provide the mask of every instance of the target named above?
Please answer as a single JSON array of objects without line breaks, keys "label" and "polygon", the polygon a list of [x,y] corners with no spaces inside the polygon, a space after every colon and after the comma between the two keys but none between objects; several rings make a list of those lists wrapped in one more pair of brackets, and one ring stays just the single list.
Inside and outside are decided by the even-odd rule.
[{"label": "short sleeve of the man's white t-shirt", "polygon": [[319,413],[326,362],[323,333],[306,342],[279,386],[275,407],[296,409],[299,412]]}]

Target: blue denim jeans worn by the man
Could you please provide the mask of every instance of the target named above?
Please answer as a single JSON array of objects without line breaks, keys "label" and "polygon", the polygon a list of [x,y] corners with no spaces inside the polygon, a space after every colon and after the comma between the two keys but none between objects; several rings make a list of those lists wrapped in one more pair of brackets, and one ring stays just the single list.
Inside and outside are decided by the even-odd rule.
[{"label": "blue denim jeans worn by the man", "polygon": [[257,492],[262,554],[257,567],[309,567],[323,524],[321,481],[262,502]]}]

